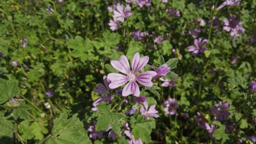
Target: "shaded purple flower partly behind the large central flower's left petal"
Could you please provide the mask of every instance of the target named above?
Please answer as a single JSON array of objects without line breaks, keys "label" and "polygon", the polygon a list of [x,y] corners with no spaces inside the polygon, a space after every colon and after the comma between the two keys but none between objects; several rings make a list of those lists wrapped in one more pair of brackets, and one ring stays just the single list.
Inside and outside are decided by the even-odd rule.
[{"label": "shaded purple flower partly behind the large central flower's left petal", "polygon": [[100,97],[97,98],[94,103],[92,104],[93,106],[97,106],[98,104],[100,104],[102,101],[104,101],[105,103],[108,103],[110,100],[113,99],[113,95],[112,95],[112,89],[109,88],[109,83],[110,80],[108,79],[108,77],[106,75],[103,76],[103,81],[104,81],[104,85],[102,85],[102,83],[98,83],[97,84],[97,89],[94,90],[95,93],[97,94],[106,94],[107,96],[105,97]]}]

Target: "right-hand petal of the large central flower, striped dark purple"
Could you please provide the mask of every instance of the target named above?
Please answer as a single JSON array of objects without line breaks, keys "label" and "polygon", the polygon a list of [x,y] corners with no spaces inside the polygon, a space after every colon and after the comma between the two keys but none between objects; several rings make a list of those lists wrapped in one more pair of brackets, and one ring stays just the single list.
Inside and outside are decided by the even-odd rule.
[{"label": "right-hand petal of the large central flower, striped dark purple", "polygon": [[146,87],[152,87],[153,82],[152,77],[156,76],[157,73],[155,71],[145,71],[138,76],[136,76],[136,80],[141,83],[141,85],[146,86]]}]

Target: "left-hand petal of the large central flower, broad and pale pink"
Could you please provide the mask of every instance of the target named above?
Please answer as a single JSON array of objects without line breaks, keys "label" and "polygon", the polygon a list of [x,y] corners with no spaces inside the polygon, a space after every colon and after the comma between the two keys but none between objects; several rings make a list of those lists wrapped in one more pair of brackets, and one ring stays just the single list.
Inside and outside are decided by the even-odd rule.
[{"label": "left-hand petal of the large central flower, broad and pale pink", "polygon": [[108,79],[111,81],[111,83],[109,84],[109,88],[111,89],[120,87],[129,80],[127,76],[117,74],[117,73],[108,74]]}]

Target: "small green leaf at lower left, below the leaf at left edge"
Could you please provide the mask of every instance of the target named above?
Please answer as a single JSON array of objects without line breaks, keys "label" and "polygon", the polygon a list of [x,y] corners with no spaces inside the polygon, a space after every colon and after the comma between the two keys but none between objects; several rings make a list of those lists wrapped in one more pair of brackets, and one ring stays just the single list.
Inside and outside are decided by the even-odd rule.
[{"label": "small green leaf at lower left, below the leaf at left edge", "polygon": [[30,106],[27,105],[21,105],[19,107],[16,107],[13,110],[13,113],[11,115],[13,115],[13,118],[15,120],[17,120],[19,117],[22,119],[26,119],[27,121],[30,120],[30,115],[27,114],[27,110],[30,109]]}]

